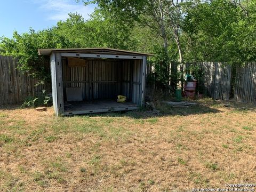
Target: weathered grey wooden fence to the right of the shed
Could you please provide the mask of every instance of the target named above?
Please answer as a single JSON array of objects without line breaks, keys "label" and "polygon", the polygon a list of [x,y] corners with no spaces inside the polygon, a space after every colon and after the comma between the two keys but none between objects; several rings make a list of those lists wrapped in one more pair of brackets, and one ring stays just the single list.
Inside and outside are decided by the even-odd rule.
[{"label": "weathered grey wooden fence to the right of the shed", "polygon": [[[171,65],[169,69],[175,73],[178,65]],[[243,67],[231,67],[221,62],[197,62],[186,63],[186,68],[193,65],[198,65],[202,70],[202,79],[198,81],[198,85],[203,94],[213,99],[256,103],[255,62],[248,62]],[[151,73],[154,73],[154,67],[150,63],[147,66],[147,75]]]}]

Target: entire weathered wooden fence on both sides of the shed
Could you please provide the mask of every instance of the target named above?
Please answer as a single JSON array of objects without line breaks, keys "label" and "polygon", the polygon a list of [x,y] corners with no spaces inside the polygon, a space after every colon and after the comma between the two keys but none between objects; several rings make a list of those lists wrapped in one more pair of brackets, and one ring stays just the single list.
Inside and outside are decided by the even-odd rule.
[{"label": "entire weathered wooden fence on both sides of the shed", "polygon": [[[213,99],[233,99],[239,102],[256,104],[256,65],[248,62],[243,67],[231,67],[220,62],[187,63],[199,65],[203,78],[198,82],[202,93]],[[173,63],[169,73],[176,73],[178,65]],[[154,73],[152,63],[147,65],[147,75]],[[42,94],[50,85],[35,86],[37,80],[27,73],[22,73],[17,60],[0,55],[0,105],[23,102],[28,96]],[[172,79],[170,79],[170,85]],[[150,85],[151,86],[151,85]],[[154,85],[155,88],[155,85]],[[50,90],[50,89],[49,89]],[[230,97],[231,96],[231,97]]]}]

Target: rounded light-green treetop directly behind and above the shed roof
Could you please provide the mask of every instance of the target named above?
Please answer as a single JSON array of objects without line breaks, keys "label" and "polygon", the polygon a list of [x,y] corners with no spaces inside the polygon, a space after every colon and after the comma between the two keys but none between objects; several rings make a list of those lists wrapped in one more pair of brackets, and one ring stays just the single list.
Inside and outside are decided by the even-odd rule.
[{"label": "rounded light-green treetop directly behind and above the shed roof", "polygon": [[111,17],[103,18],[99,11],[85,21],[82,15],[70,13],[66,21],[59,21],[53,27],[54,33],[68,39],[70,47],[110,47],[114,49],[135,49],[131,39],[131,28]]}]

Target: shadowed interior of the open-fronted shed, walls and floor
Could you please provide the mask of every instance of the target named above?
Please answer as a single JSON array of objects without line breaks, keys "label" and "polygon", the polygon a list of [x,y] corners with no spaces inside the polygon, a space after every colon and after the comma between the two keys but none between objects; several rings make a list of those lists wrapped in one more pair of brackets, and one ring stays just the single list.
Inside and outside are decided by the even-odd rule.
[{"label": "shadowed interior of the open-fronted shed, walls and floor", "polygon": [[[137,109],[143,102],[142,62],[61,57],[65,115]],[[77,94],[81,99],[72,100]],[[116,102],[117,95],[124,95],[126,102]]]}]

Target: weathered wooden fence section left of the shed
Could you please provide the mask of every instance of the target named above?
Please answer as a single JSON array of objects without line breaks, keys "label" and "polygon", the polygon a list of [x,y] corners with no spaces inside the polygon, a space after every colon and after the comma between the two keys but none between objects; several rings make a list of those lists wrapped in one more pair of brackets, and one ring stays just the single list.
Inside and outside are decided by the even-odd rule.
[{"label": "weathered wooden fence section left of the shed", "polygon": [[17,60],[0,55],[0,105],[21,103],[40,94],[45,87],[36,83],[35,78],[21,72]]}]

